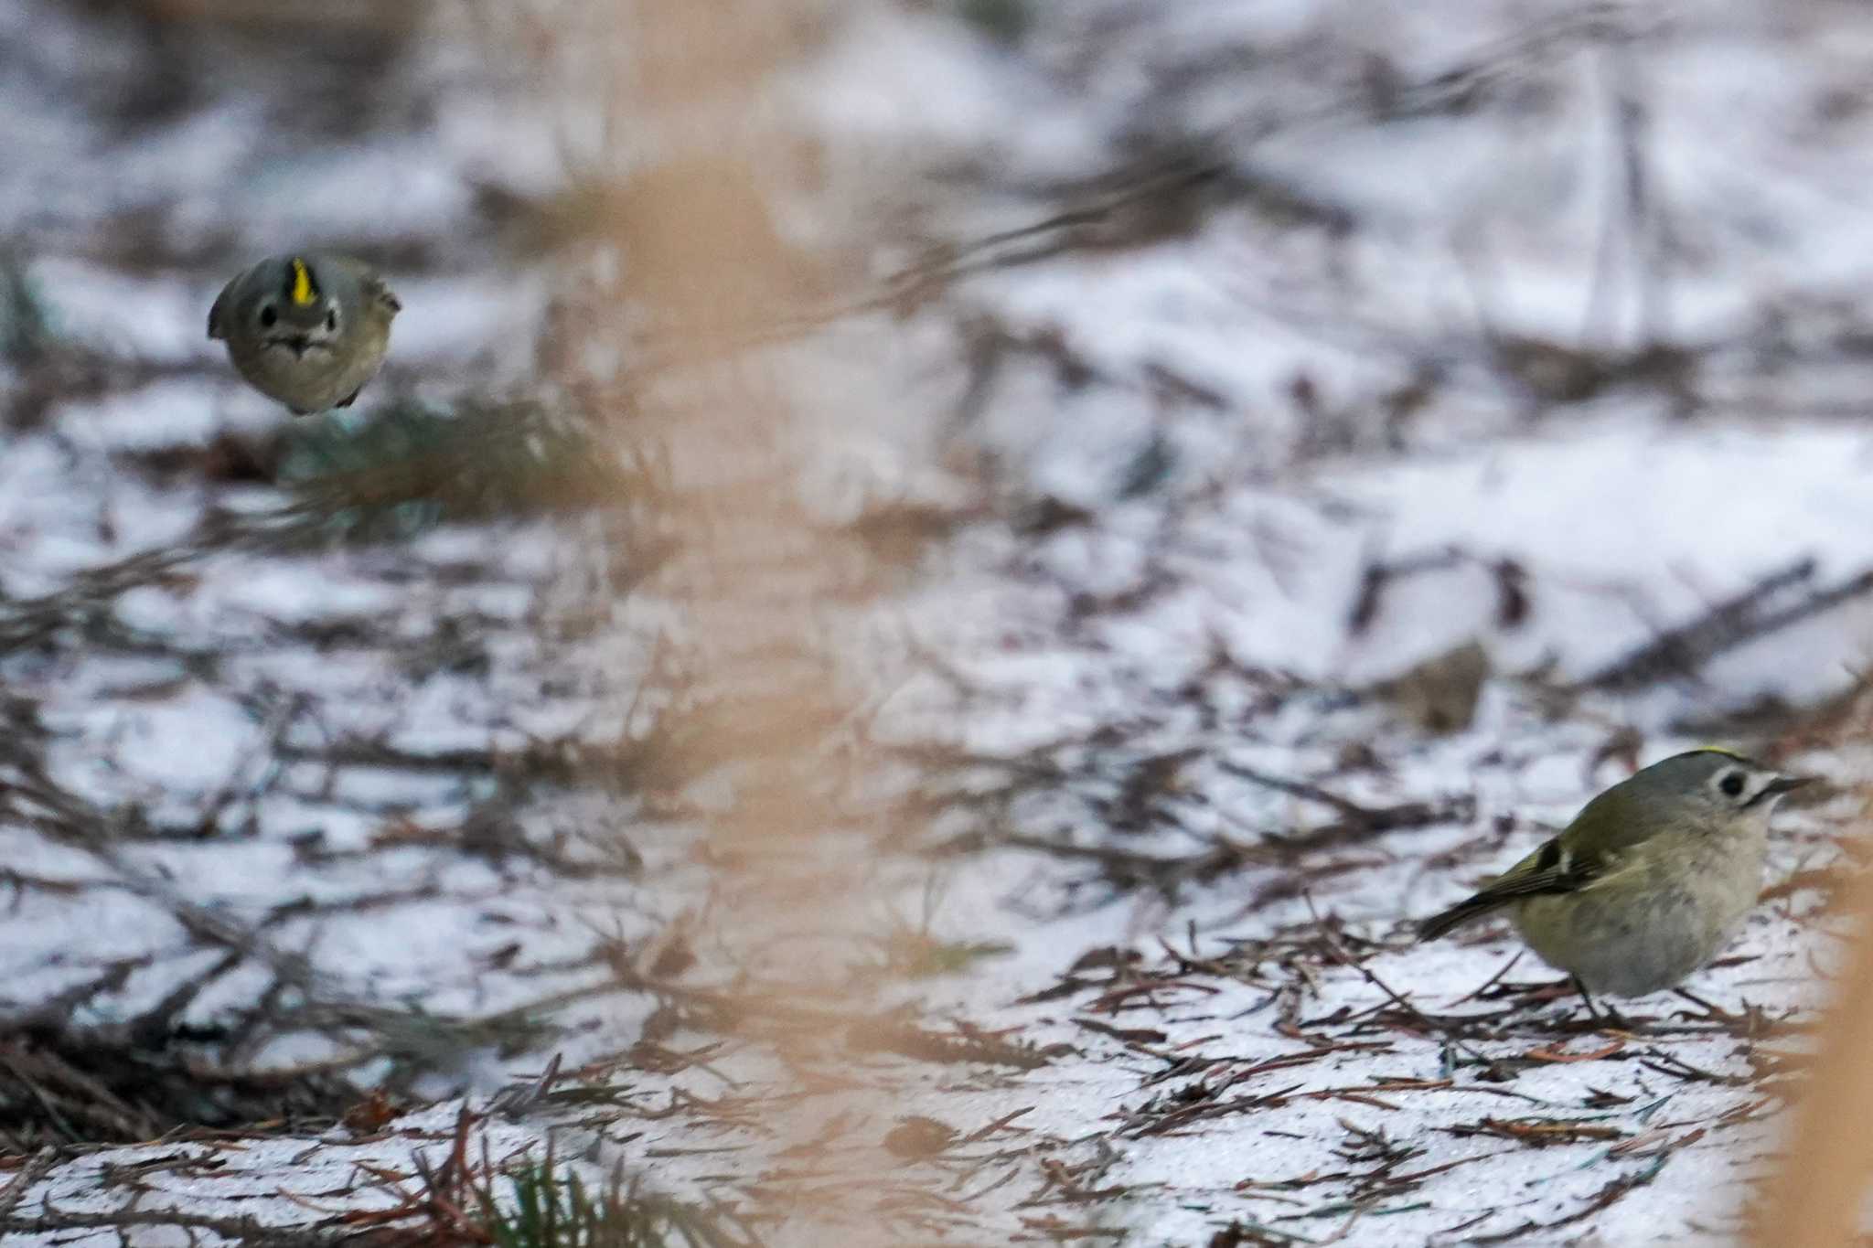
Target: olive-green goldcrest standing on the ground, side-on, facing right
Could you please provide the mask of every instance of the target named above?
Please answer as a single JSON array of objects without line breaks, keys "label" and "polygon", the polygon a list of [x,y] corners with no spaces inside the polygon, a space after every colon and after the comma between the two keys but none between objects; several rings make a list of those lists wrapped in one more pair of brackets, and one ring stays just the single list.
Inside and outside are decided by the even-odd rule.
[{"label": "olive-green goldcrest standing on the ground, side-on, facing right", "polygon": [[1762,889],[1776,799],[1807,784],[1727,750],[1620,780],[1418,939],[1506,907],[1528,947],[1590,994],[1643,997],[1710,962]]}]

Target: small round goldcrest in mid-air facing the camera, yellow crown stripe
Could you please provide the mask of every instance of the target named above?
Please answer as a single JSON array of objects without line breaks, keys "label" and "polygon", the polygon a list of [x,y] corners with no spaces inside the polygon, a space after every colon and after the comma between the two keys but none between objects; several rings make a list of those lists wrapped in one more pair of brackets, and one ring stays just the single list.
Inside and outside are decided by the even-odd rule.
[{"label": "small round goldcrest in mid-air facing the camera, yellow crown stripe", "polygon": [[360,260],[322,253],[270,256],[230,281],[208,312],[208,337],[234,369],[296,415],[348,408],[390,350],[403,303]]}]

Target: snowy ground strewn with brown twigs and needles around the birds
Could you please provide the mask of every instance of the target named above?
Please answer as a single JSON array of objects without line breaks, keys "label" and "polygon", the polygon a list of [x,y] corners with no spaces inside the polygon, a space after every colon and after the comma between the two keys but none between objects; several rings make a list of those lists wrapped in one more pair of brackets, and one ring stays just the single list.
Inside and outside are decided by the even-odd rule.
[{"label": "snowy ground strewn with brown twigs and needles around the birds", "polygon": [[[819,144],[775,215],[858,311],[755,356],[815,515],[940,520],[841,608],[828,754],[873,773],[781,848],[626,771],[684,602],[590,516],[210,541],[285,498],[202,337],[255,253],[391,273],[354,419],[564,354],[515,204],[596,176],[541,69],[592,47],[423,21],[0,0],[0,260],[79,348],[0,363],[9,1242],[337,1231],[463,1098],[494,1160],[556,1136],[772,1242],[1734,1237],[1867,769],[1856,7],[822,13],[760,118]],[[1427,728],[1388,683],[1465,642]],[[1708,1007],[1596,1027],[1500,928],[1410,943],[1706,741],[1832,782]],[[242,1078],[139,1096],[139,1044]],[[111,1115],[49,1134],[92,1050]]]}]

